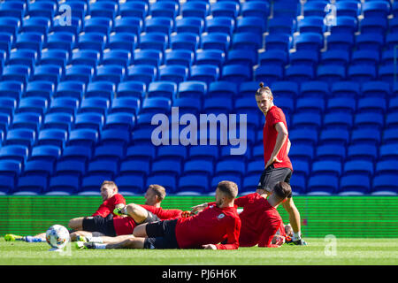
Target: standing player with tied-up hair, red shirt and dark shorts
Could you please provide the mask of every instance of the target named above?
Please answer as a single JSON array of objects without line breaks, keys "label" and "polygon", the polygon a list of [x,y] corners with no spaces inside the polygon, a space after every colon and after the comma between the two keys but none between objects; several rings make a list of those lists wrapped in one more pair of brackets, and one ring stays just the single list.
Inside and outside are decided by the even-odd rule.
[{"label": "standing player with tied-up hair, red shirt and dark shorts", "polygon": [[[260,177],[257,188],[271,192],[272,187],[279,181],[290,184],[293,167],[287,156],[291,143],[288,139],[287,122],[283,111],[273,104],[272,91],[260,83],[256,91],[256,103],[265,116],[263,128],[264,143],[264,172]],[[289,215],[293,228],[292,244],[306,245],[301,237],[300,212],[295,207],[292,195],[287,196],[287,201],[282,203]]]}]

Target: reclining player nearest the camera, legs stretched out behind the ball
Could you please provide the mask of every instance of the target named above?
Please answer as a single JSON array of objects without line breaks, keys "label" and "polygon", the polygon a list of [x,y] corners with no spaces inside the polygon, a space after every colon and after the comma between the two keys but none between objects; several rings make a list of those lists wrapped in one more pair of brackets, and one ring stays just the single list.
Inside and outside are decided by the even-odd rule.
[{"label": "reclining player nearest the camera, legs stretched out behind the ball", "polygon": [[[216,203],[188,218],[142,224],[117,243],[78,242],[80,249],[238,249],[241,219],[233,206],[238,186],[221,181]],[[225,243],[220,244],[221,241]]]}]

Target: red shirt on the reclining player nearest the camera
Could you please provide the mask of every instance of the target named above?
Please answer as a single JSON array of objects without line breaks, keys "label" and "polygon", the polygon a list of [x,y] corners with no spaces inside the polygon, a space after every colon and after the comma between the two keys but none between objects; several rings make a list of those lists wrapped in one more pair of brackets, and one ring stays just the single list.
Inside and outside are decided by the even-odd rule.
[{"label": "red shirt on the reclining player nearest the camera", "polygon": [[[234,207],[212,205],[189,218],[179,218],[175,235],[180,249],[202,249],[214,244],[217,249],[238,249],[241,219]],[[226,239],[226,244],[218,244]]]}]

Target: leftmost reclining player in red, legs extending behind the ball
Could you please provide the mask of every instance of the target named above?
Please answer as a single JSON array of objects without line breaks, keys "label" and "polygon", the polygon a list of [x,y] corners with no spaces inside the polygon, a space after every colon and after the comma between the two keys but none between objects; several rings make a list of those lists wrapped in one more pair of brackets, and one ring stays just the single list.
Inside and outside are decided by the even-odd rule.
[{"label": "leftmost reclining player in red, legs extending behind the ball", "polygon": [[[72,230],[91,231],[93,223],[111,221],[112,218],[120,218],[113,210],[126,205],[123,195],[119,194],[118,186],[113,181],[104,180],[100,187],[103,203],[98,207],[96,212],[89,218],[73,218],[69,221],[69,227]],[[107,219],[107,220],[106,220]],[[91,231],[94,232],[94,231]],[[5,241],[46,241],[46,233],[39,233],[35,236],[19,236],[14,234],[6,234]]]}]

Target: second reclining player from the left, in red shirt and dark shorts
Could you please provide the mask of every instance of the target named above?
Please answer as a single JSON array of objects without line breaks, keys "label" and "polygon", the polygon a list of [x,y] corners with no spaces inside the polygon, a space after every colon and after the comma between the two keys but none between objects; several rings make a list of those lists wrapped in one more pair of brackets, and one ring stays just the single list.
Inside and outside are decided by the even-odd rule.
[{"label": "second reclining player from the left, in red shirt and dark shorts", "polygon": [[[71,233],[71,241],[116,241],[114,237],[131,235],[134,227],[163,219],[180,218],[182,210],[163,210],[165,187],[149,185],[145,194],[145,204],[124,205],[126,215],[116,218],[89,218],[83,220],[83,231]],[[122,207],[116,207],[119,211]]]}]

